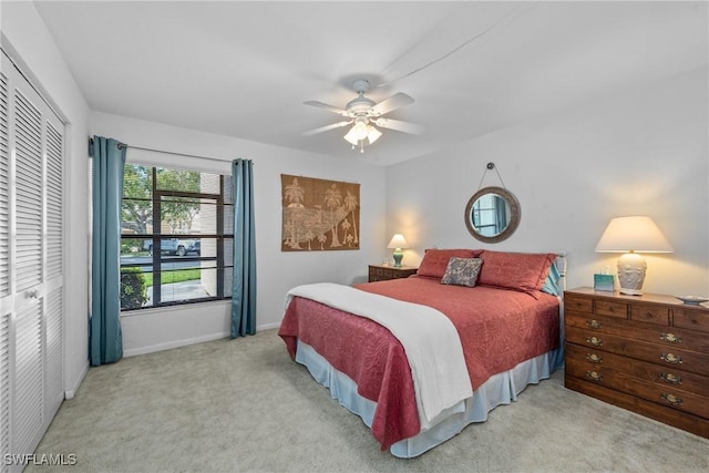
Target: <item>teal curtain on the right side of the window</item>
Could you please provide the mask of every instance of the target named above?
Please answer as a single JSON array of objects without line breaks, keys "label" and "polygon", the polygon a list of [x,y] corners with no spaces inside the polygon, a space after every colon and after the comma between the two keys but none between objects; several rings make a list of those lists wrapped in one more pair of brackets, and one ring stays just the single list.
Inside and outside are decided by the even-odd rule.
[{"label": "teal curtain on the right side of the window", "polygon": [[256,237],[254,233],[254,163],[234,160],[234,288],[232,338],[256,333]]}]

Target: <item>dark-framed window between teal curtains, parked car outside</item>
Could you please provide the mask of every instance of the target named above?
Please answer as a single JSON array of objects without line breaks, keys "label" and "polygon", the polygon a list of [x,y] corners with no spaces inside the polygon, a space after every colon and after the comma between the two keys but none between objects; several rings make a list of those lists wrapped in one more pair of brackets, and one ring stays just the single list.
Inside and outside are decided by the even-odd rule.
[{"label": "dark-framed window between teal curtains, parked car outside", "polygon": [[121,309],[232,298],[232,178],[126,164]]}]

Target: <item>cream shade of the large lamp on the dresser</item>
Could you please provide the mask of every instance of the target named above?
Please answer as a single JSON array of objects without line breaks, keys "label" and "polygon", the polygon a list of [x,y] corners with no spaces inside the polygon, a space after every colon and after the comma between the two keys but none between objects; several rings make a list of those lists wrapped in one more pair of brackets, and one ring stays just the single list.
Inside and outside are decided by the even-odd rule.
[{"label": "cream shade of the large lamp on the dresser", "polygon": [[598,253],[672,253],[660,229],[650,217],[613,218],[603,233]]}]

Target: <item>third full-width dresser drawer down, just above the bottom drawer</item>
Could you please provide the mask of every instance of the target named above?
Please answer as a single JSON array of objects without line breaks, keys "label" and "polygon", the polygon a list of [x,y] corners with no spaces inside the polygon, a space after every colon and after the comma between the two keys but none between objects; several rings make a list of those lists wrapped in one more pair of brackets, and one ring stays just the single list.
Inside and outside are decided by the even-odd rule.
[{"label": "third full-width dresser drawer down, just above the bottom drawer", "polygon": [[[566,343],[566,359],[585,364],[586,369],[610,369],[624,374],[654,382],[660,388],[669,387],[682,391],[709,395],[709,378],[689,373],[675,367],[662,367],[647,361],[628,359],[619,354]],[[623,389],[623,387],[617,387]]]}]

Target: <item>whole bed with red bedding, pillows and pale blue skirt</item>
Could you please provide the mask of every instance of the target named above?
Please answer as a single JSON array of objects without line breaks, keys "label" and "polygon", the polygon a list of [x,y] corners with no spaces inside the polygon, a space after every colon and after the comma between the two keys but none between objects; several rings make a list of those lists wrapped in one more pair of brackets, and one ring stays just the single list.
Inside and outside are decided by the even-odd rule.
[{"label": "whole bed with red bedding, pillows and pale blue skirt", "polygon": [[556,257],[430,249],[410,278],[291,289],[278,335],[382,450],[418,456],[562,364]]}]

